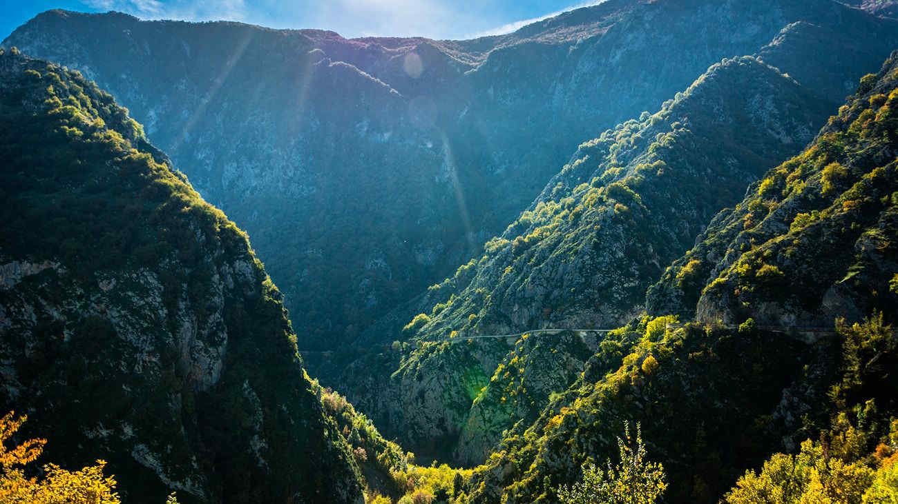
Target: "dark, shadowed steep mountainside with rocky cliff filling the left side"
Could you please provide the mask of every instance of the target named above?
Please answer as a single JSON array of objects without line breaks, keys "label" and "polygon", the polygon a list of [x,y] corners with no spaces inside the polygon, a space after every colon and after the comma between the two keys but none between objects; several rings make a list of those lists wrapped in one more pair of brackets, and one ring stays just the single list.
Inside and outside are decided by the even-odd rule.
[{"label": "dark, shadowed steep mountainside with rocky cliff filling the left side", "polygon": [[246,235],[81,74],[0,51],[0,409],[126,500],[360,502]]}]

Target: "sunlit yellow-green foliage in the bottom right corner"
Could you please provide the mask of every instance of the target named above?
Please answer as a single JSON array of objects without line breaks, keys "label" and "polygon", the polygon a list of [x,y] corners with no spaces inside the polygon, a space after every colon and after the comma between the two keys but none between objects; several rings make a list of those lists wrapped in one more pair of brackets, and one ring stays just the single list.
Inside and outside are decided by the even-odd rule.
[{"label": "sunlit yellow-green foliage in the bottom right corner", "polygon": [[748,471],[727,502],[898,501],[898,390],[891,376],[898,367],[898,335],[883,324],[882,314],[837,327],[841,377],[830,388],[829,429],[820,441],[803,442],[797,455],[779,453],[760,472]]}]

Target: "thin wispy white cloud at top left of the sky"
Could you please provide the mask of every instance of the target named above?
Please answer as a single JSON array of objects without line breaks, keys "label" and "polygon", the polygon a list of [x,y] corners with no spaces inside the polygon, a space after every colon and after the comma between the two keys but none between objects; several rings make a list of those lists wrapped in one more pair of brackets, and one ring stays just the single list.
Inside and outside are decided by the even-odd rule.
[{"label": "thin wispy white cloud at top left of the sky", "polygon": [[83,0],[85,5],[103,11],[120,11],[143,19],[179,19],[187,21],[246,19],[249,10],[244,0]]}]

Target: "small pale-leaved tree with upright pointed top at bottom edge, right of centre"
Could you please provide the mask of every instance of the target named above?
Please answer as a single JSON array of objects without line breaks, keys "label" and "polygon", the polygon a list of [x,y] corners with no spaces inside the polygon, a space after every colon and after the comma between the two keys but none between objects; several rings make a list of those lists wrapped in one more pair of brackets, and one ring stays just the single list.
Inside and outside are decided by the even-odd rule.
[{"label": "small pale-leaved tree with upright pointed top at bottom edge, right of centre", "polygon": [[612,467],[607,461],[607,470],[594,464],[584,464],[583,478],[572,488],[567,485],[558,491],[562,504],[652,504],[667,488],[665,468],[656,462],[647,462],[646,446],[642,442],[642,430],[636,424],[635,444],[629,436],[629,423],[624,423],[624,436],[618,438],[621,461]]}]

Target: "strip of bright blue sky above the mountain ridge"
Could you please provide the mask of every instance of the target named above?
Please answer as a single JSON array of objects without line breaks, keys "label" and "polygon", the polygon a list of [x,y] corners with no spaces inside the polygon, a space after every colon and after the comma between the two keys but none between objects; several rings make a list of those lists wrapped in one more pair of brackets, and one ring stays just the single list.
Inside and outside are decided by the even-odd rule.
[{"label": "strip of bright blue sky above the mountain ridge", "polygon": [[273,28],[321,28],[344,37],[421,35],[467,39],[508,32],[526,22],[597,0],[0,0],[0,39],[48,9],[110,10],[143,19],[231,20]]}]

